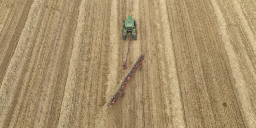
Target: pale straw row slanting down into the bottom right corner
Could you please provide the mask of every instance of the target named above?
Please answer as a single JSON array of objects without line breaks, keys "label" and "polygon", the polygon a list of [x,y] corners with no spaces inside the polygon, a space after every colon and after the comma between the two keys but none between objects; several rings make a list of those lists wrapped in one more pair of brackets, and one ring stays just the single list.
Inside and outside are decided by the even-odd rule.
[{"label": "pale straw row slanting down into the bottom right corner", "polygon": [[227,30],[226,30],[227,23],[225,22],[223,14],[219,9],[219,6],[216,0],[211,0],[211,3],[213,5],[214,12],[217,17],[217,22],[218,22],[219,32],[220,32],[219,34],[222,35],[222,41],[224,43],[224,47],[229,58],[232,76],[236,81],[234,87],[238,92],[239,100],[242,104],[242,109],[245,113],[244,117],[248,125],[247,127],[250,127],[250,128],[256,127],[256,123],[255,123],[256,118],[255,118],[255,115],[252,114],[253,110],[250,104],[250,97],[248,94],[248,90],[246,88],[246,83],[244,81],[243,75],[239,68],[238,58],[236,56],[236,53],[233,50],[232,44],[229,39],[229,35],[227,34]]}]

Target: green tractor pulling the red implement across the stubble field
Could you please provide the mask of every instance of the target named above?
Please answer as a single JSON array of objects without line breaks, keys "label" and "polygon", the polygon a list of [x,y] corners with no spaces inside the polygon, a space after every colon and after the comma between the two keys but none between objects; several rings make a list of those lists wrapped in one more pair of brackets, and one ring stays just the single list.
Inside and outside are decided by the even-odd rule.
[{"label": "green tractor pulling the red implement across the stubble field", "polygon": [[136,20],[128,16],[128,20],[123,20],[123,27],[123,40],[137,40]]}]

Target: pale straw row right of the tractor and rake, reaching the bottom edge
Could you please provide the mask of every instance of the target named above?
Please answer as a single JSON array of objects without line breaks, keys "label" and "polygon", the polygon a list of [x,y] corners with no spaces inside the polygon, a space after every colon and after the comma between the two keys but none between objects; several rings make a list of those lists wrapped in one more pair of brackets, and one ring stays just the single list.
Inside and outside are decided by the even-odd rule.
[{"label": "pale straw row right of the tractor and rake, reaching the bottom edge", "polygon": [[172,101],[171,108],[172,108],[172,115],[173,115],[172,122],[174,123],[174,127],[185,127],[179,80],[177,76],[177,69],[176,69],[176,63],[175,63],[174,47],[173,47],[173,42],[170,38],[171,30],[170,30],[168,13],[167,13],[167,5],[165,0],[160,0],[160,10],[162,12],[161,13],[162,24],[166,26],[164,27],[163,31],[164,31],[164,37],[165,37],[167,67],[169,72],[168,77],[169,77],[169,80],[172,80],[170,83],[171,101]]}]

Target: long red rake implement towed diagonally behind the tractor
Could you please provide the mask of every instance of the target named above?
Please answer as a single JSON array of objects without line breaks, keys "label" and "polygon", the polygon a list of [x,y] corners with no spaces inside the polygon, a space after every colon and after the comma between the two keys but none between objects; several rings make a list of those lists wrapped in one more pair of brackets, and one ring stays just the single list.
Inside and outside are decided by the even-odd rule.
[{"label": "long red rake implement towed diagonally behind the tractor", "polygon": [[[128,58],[128,54],[129,54],[129,48],[130,48],[130,44],[128,44],[128,50],[127,50],[127,55],[126,55],[126,60],[125,63],[123,65],[123,69],[124,69],[124,82],[120,85],[117,93],[113,96],[113,98],[111,99],[111,102],[109,104],[110,105],[114,105],[116,103],[116,101],[118,100],[118,98],[120,97],[120,95],[124,96],[124,89],[126,88],[126,86],[128,85],[129,81],[131,80],[132,76],[134,75],[134,73],[137,71],[138,68],[140,68],[141,71],[141,62],[144,60],[145,55],[141,55],[139,57],[139,59],[136,61],[136,63],[133,66],[127,65],[127,58]],[[125,76],[125,71],[126,68],[128,67],[132,67],[131,71]]]}]

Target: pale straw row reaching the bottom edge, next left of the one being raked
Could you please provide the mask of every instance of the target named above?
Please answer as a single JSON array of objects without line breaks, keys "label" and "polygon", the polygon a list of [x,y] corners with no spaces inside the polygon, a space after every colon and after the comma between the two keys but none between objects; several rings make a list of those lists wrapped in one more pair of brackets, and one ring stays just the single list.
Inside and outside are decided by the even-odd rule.
[{"label": "pale straw row reaching the bottom edge, next left of the one being raked", "polygon": [[70,109],[73,99],[73,90],[75,87],[75,84],[77,82],[76,77],[76,68],[78,66],[78,60],[79,60],[79,54],[80,54],[80,45],[82,43],[82,36],[83,36],[83,30],[85,25],[85,8],[86,3],[88,0],[82,0],[81,5],[79,7],[79,16],[77,19],[77,26],[75,31],[75,37],[74,37],[74,45],[72,50],[72,55],[70,58],[70,64],[69,64],[69,71],[68,71],[68,79],[66,82],[65,87],[65,93],[62,100],[61,110],[60,110],[60,117],[59,117],[59,123],[58,128],[67,128],[69,124],[69,115],[70,115]]}]

